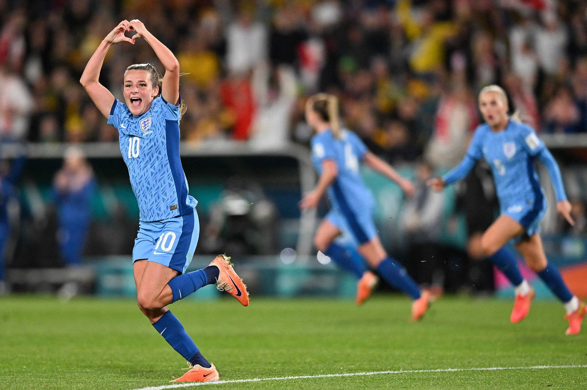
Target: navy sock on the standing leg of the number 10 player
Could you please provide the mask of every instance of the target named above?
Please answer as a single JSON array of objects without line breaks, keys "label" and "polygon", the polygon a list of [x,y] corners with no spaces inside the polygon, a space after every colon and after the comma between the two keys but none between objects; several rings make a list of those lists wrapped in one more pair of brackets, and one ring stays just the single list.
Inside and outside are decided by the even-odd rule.
[{"label": "navy sock on the standing leg of the number 10 player", "polygon": [[185,360],[194,364],[191,360],[194,359],[194,357],[198,357],[197,361],[205,361],[208,365],[204,366],[199,362],[197,364],[206,368],[211,367],[208,361],[206,361],[200,353],[200,350],[198,350],[198,347],[194,344],[194,341],[191,340],[187,333],[185,333],[183,325],[169,310],[153,324],[153,327],[161,336],[163,336],[165,341],[177,351],[177,353],[184,357]]}]

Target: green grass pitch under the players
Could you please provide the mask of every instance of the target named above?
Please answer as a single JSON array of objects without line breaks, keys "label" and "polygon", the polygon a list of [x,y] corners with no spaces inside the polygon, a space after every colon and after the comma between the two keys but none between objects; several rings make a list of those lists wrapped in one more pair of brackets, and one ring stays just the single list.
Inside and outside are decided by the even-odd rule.
[{"label": "green grass pitch under the players", "polygon": [[[168,385],[185,361],[132,300],[0,298],[0,388],[137,389]],[[511,302],[445,297],[423,321],[410,303],[231,297],[171,305],[221,380],[445,368],[587,365],[587,329],[565,336],[556,302],[510,324]],[[214,389],[585,389],[587,368],[412,372],[204,386]],[[200,388],[198,386],[198,388]]]}]

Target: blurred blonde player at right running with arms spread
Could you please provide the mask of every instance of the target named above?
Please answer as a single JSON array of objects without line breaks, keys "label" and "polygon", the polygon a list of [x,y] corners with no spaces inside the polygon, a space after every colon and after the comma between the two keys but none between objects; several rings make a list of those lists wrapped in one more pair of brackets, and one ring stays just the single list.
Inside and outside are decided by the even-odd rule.
[{"label": "blurred blonde player at right running with arms spread", "polygon": [[569,321],[566,334],[579,333],[587,309],[566,287],[558,269],[546,260],[539,234],[546,199],[538,182],[535,158],[548,169],[556,193],[556,210],[573,224],[571,204],[566,200],[558,165],[534,129],[508,117],[507,95],[501,87],[488,85],[483,88],[479,94],[479,108],[485,124],[475,129],[465,158],[442,179],[436,177],[429,183],[434,190],[441,191],[448,184],[467,176],[478,159],[487,160],[493,172],[501,212],[484,232],[481,248],[515,286],[516,296],[510,321],[517,323],[528,315],[535,295],[528,282],[522,278],[515,257],[504,248],[513,239],[526,264],[538,273],[552,293],[564,303],[565,318]]}]

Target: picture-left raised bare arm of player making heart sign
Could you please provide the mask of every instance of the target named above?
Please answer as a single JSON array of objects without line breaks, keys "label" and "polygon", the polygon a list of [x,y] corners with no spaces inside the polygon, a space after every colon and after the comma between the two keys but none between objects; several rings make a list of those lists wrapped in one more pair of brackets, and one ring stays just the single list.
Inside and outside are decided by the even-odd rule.
[{"label": "picture-left raised bare arm of player making heart sign", "polygon": [[98,110],[106,118],[110,115],[110,108],[112,108],[112,104],[114,103],[114,95],[104,85],[100,84],[100,70],[102,70],[104,57],[106,57],[110,46],[122,41],[134,43],[129,37],[124,36],[128,24],[129,22],[127,20],[123,20],[100,42],[100,46],[98,46],[96,52],[87,62],[86,69],[83,70],[82,77],[79,79],[87,94],[90,95],[90,99],[92,99]]}]

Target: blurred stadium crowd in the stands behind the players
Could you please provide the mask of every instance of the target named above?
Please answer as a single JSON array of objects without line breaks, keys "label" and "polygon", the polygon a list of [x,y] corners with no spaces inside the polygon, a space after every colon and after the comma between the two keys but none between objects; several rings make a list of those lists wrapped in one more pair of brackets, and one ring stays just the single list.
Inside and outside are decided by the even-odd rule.
[{"label": "blurred stadium crowd in the stands behind the players", "polygon": [[[338,95],[345,125],[373,152],[418,164],[419,191],[402,221],[410,257],[440,250],[443,200],[423,183],[463,157],[480,123],[481,87],[504,86],[540,134],[587,132],[581,0],[0,0],[2,141],[118,140],[78,80],[121,17],[143,21],[176,54],[187,104],[181,136],[194,149],[226,140],[254,150],[308,145],[306,98]],[[100,81],[122,98],[124,70],[146,60],[157,65],[140,41],[116,45]],[[495,202],[487,168],[475,172],[458,198],[471,237],[491,222]],[[574,188],[572,232],[584,234],[585,199]]]}]

